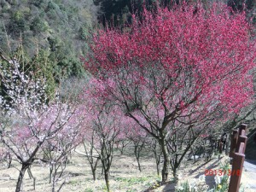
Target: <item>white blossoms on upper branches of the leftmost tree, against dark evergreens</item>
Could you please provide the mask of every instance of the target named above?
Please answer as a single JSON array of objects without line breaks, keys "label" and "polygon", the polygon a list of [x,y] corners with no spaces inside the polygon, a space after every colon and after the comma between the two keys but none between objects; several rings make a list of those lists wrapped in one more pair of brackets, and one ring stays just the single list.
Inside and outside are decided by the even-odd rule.
[{"label": "white blossoms on upper branches of the leftmost tree, against dark evergreens", "polygon": [[9,61],[8,70],[2,66],[0,70],[7,95],[7,98],[1,97],[0,103],[5,110],[15,113],[17,108],[31,110],[44,103],[42,100],[45,99],[45,79],[35,79],[32,73],[26,74],[16,60]]}]

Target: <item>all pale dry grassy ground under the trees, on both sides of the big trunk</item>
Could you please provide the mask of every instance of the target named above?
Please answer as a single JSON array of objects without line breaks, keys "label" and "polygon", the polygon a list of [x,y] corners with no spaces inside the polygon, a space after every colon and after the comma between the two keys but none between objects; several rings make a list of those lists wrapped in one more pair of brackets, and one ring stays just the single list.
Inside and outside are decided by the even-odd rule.
[{"label": "all pale dry grassy ground under the trees, on both sides of the big trunk", "polygon": [[[78,148],[83,151],[83,148]],[[119,150],[114,152],[113,166],[110,171],[110,188],[113,192],[172,192],[175,190],[175,183],[170,182],[164,186],[158,186],[160,177],[156,174],[153,154],[147,150],[143,151],[141,165],[143,172],[138,171],[137,161],[132,153],[132,148],[126,148],[125,154],[121,155]],[[180,167],[179,173],[182,174],[181,181],[198,178],[203,175],[206,169],[218,169],[219,163],[224,162],[228,157],[218,155],[212,157],[212,160],[205,163],[202,159],[197,162],[188,160]],[[18,178],[20,165],[15,163],[11,168],[7,168],[3,163],[0,164],[0,192],[15,191],[15,184]],[[63,192],[103,192],[106,191],[104,178],[101,174],[102,169],[99,165],[96,172],[96,182],[92,180],[90,164],[85,157],[78,153],[73,153],[71,162],[67,165],[66,173],[69,174],[67,184],[61,189]],[[172,172],[170,172],[171,174]],[[40,165],[32,166],[32,174],[37,177],[36,190],[33,190],[32,179],[27,172],[24,179],[23,191],[49,192],[49,167]],[[252,182],[252,172],[243,172],[241,183]],[[172,177],[171,177],[172,180]],[[61,183],[62,181],[59,181]],[[207,185],[214,186],[214,177],[207,177]],[[148,190],[147,190],[148,189]],[[255,192],[247,189],[246,192]]]}]

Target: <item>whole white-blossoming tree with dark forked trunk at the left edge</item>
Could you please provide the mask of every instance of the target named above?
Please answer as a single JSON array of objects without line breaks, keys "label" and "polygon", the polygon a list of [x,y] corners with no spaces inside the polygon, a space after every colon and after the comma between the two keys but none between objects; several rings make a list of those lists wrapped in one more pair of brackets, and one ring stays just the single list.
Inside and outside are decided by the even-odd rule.
[{"label": "whole white-blossoming tree with dark forked trunk at the left edge", "polygon": [[[0,63],[3,93],[0,96],[0,142],[12,159],[20,163],[15,189],[20,192],[24,174],[35,161],[56,165],[67,160],[69,152],[79,143],[80,119],[79,112],[70,103],[61,102],[57,95],[52,100],[47,98],[44,78],[25,73],[16,59],[3,59],[7,65]],[[76,142],[61,143],[67,140]],[[45,160],[45,148],[55,146],[59,154]],[[52,191],[55,191],[55,184]]]}]

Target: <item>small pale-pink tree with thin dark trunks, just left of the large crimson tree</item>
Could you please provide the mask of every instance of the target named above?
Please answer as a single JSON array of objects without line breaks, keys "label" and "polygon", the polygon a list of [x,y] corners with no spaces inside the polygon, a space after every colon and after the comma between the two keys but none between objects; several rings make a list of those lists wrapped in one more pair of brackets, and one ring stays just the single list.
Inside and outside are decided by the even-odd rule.
[{"label": "small pale-pink tree with thin dark trunks, just left of the large crimson tree", "polygon": [[84,94],[84,149],[93,179],[96,180],[96,166],[100,160],[106,187],[110,191],[109,173],[113,162],[113,148],[119,138],[123,113],[112,102],[102,102],[94,97],[94,83],[96,82],[92,80],[90,88]]}]

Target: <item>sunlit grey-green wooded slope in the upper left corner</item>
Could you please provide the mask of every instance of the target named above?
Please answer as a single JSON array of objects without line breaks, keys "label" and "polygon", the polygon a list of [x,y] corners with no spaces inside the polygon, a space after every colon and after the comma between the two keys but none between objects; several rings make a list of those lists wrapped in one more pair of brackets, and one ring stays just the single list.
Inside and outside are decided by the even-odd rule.
[{"label": "sunlit grey-green wooded slope in the upper left corner", "polygon": [[12,54],[22,42],[27,57],[39,50],[53,73],[65,69],[67,76],[80,76],[79,55],[87,49],[98,10],[92,0],[1,0],[1,49]]}]

